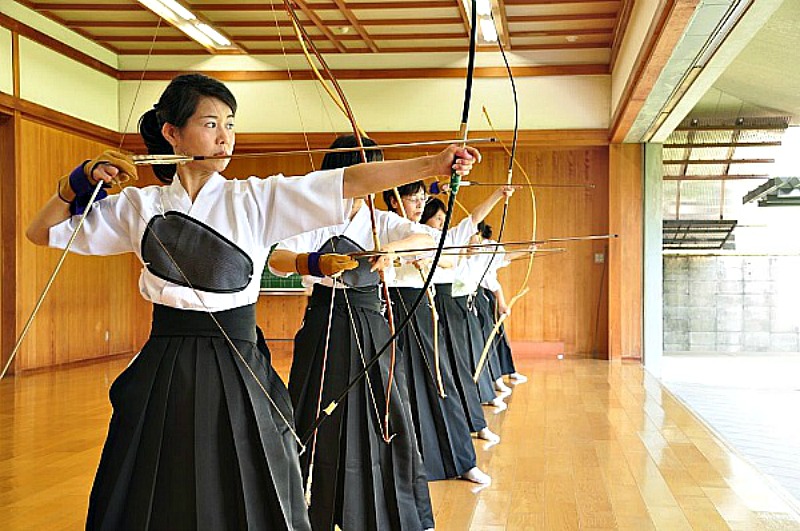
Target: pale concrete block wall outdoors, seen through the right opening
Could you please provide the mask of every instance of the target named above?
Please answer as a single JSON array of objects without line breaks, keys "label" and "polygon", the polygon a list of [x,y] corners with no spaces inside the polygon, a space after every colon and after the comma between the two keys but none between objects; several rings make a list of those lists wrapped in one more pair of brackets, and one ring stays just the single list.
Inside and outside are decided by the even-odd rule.
[{"label": "pale concrete block wall outdoors, seen through the right opening", "polygon": [[800,352],[800,256],[664,256],[665,352]]}]

